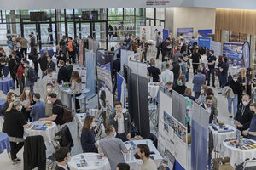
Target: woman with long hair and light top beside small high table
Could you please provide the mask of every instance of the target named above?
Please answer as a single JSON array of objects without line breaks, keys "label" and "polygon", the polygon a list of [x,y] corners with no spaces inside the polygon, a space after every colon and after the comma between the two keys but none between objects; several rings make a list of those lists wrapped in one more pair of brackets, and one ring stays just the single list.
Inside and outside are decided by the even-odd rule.
[{"label": "woman with long hair and light top beside small high table", "polygon": [[[72,72],[70,82],[71,82],[70,88],[73,90],[73,93],[75,94],[75,98],[80,96],[82,92],[82,78],[79,76],[79,71]],[[80,105],[79,105],[78,99],[75,99],[75,109],[79,113]]]}]

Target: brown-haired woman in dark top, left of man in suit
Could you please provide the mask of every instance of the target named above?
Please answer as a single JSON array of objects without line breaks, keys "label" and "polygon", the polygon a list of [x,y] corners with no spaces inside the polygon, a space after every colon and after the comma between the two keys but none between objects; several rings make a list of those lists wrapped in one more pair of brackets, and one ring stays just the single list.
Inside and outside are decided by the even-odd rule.
[{"label": "brown-haired woman in dark top, left of man in suit", "polygon": [[96,127],[95,117],[91,115],[86,116],[81,134],[81,145],[84,153],[98,152],[98,144],[95,141],[94,127]]}]

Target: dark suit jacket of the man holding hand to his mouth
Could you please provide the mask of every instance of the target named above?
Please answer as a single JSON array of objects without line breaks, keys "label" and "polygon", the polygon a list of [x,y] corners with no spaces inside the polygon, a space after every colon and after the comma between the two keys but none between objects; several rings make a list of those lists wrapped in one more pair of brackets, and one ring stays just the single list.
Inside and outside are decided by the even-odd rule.
[{"label": "dark suit jacket of the man holding hand to his mouth", "polygon": [[[115,113],[109,116],[108,124],[113,125],[116,131],[118,131],[118,120],[114,120]],[[128,112],[123,113],[125,123],[125,134],[131,133],[131,118]]]}]

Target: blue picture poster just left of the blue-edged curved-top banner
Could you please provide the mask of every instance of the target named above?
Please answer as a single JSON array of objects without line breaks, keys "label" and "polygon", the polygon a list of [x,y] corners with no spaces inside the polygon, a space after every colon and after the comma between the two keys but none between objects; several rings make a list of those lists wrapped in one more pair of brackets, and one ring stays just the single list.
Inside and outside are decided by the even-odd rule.
[{"label": "blue picture poster just left of the blue-edged curved-top banner", "polygon": [[223,56],[228,57],[230,65],[237,65],[240,67],[246,66],[246,60],[242,56],[243,43],[238,42],[224,42]]}]

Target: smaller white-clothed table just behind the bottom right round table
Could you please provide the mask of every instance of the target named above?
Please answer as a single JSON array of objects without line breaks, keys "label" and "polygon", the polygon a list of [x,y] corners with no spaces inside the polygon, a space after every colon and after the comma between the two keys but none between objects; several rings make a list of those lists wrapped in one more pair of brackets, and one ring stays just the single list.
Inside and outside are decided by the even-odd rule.
[{"label": "smaller white-clothed table just behind the bottom right round table", "polygon": [[236,138],[236,127],[230,125],[224,125],[228,127],[228,130],[220,129],[218,124],[214,124],[218,130],[214,130],[212,125],[209,125],[209,129],[212,131],[213,146],[214,148],[221,145],[225,139]]}]

